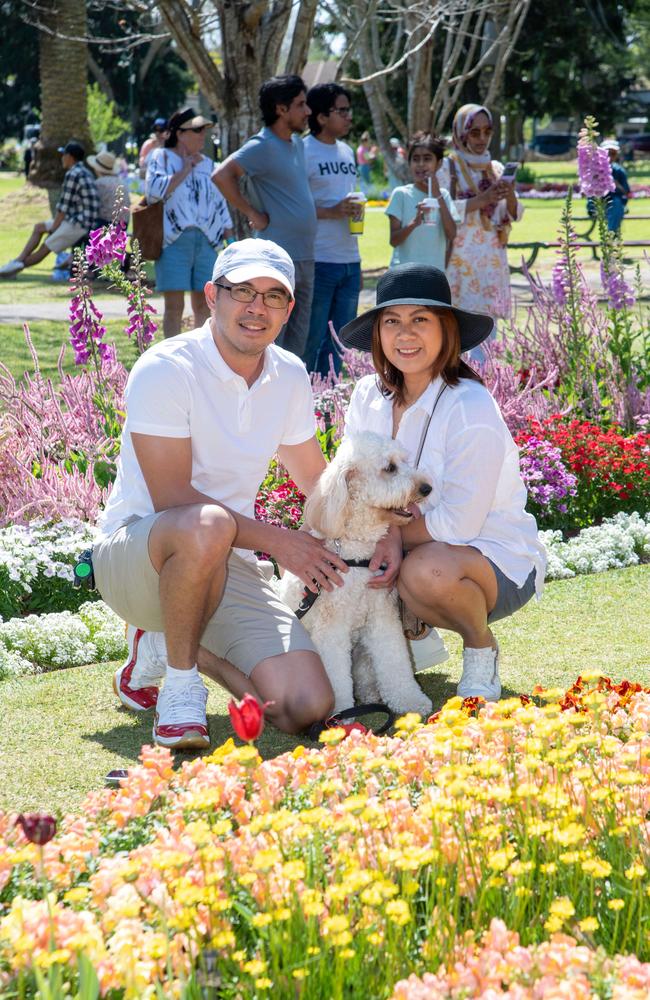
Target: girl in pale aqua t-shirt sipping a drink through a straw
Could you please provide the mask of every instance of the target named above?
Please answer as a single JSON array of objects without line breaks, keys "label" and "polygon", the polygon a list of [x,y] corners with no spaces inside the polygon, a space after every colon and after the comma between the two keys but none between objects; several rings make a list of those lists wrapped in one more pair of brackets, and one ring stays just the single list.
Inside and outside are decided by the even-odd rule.
[{"label": "girl in pale aqua t-shirt sipping a drink through a straw", "polygon": [[436,175],[444,151],[444,141],[426,132],[416,132],[408,145],[413,182],[394,188],[386,207],[394,247],[391,267],[431,264],[445,268],[447,243],[454,240],[459,215]]}]

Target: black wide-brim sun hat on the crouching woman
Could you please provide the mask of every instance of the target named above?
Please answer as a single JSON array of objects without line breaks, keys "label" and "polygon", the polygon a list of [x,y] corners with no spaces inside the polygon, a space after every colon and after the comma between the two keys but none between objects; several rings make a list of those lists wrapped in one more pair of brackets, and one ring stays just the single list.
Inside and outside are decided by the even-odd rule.
[{"label": "black wide-brim sun hat on the crouching woman", "polygon": [[494,320],[485,313],[470,313],[451,304],[451,289],[444,271],[430,264],[398,264],[377,282],[377,304],[339,330],[346,347],[369,351],[372,328],[382,309],[388,306],[430,306],[449,309],[458,320],[460,350],[471,351],[490,336]]}]

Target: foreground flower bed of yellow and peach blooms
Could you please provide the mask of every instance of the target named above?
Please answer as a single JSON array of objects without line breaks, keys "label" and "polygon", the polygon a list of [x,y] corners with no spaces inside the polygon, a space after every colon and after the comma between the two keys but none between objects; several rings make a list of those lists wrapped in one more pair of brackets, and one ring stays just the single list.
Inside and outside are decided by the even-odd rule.
[{"label": "foreground flower bed of yellow and peach blooms", "polygon": [[[648,966],[615,956],[650,958],[650,692],[591,677],[539,694],[477,713],[455,698],[395,737],[330,730],[264,762],[229,741],[174,771],[145,748],[44,847],[0,816],[0,996],[36,974],[74,995],[92,973],[111,1000],[460,998],[495,951],[504,982],[519,961],[537,989],[513,996],[544,996],[557,955],[554,996],[589,995],[576,963],[643,987]],[[488,932],[480,951],[468,931]],[[425,973],[456,992],[394,985]]]}]

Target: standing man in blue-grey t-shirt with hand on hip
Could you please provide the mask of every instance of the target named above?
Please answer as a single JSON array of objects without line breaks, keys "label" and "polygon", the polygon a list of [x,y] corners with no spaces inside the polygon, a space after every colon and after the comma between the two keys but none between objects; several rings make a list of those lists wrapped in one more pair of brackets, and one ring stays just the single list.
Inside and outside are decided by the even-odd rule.
[{"label": "standing man in blue-grey t-shirt with hand on hip", "polygon": [[316,235],[300,138],[309,117],[306,94],[299,76],[274,76],[263,83],[259,101],[264,127],[213,174],[226,200],[248,219],[253,235],[273,240],[293,260],[295,306],[276,343],[301,358],[309,331]]}]

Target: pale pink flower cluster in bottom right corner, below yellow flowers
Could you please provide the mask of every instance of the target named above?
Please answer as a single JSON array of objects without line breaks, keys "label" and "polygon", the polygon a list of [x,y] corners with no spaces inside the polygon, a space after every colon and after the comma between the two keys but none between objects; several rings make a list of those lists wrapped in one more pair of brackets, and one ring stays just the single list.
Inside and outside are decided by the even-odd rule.
[{"label": "pale pink flower cluster in bottom right corner, below yellow flowers", "polygon": [[[567,934],[523,948],[519,935],[493,919],[476,944],[471,935],[447,969],[397,983],[390,1000],[616,1000],[650,996],[650,963],[634,955],[615,955],[579,945]],[[611,992],[610,992],[611,990]]]}]

